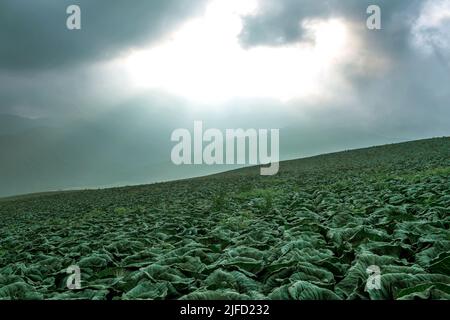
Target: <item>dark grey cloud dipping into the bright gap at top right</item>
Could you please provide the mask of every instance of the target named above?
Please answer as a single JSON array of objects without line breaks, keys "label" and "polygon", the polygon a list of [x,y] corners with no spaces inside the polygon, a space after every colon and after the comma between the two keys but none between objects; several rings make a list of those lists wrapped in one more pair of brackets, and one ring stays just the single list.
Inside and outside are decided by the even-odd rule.
[{"label": "dark grey cloud dipping into the bright gap at top right", "polygon": [[[410,19],[417,16],[421,0],[261,0],[260,10],[245,17],[240,34],[243,46],[286,45],[307,40],[302,22],[307,19],[345,18],[356,25],[374,48],[399,53],[407,44]],[[382,11],[380,32],[366,29],[367,7],[378,5]]]}]

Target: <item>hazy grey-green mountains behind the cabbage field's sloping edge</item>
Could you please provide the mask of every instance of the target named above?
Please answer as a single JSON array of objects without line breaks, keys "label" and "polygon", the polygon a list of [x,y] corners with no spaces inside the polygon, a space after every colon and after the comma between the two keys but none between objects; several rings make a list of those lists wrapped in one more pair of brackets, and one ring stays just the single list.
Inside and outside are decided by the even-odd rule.
[{"label": "hazy grey-green mountains behind the cabbage field's sloping edge", "polygon": [[[0,196],[147,184],[239,167],[174,165],[170,160],[175,145],[170,141],[171,132],[180,127],[192,131],[193,122],[176,114],[164,121],[157,119],[157,115],[139,107],[67,122],[1,115]],[[262,127],[256,122],[248,126],[233,123],[233,119],[224,121],[220,129]],[[214,125],[214,121],[206,121],[205,127]],[[288,126],[280,129],[280,159],[391,143],[401,138],[354,126],[322,126],[320,130],[308,124]]]}]

